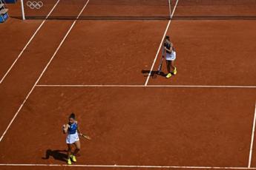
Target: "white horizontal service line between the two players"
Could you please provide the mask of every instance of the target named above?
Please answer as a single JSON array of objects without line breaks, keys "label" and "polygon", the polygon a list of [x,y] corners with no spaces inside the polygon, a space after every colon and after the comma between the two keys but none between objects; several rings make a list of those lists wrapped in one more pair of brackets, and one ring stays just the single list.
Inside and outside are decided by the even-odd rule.
[{"label": "white horizontal service line between the two players", "polygon": [[107,85],[107,84],[38,84],[36,86],[42,87],[187,87],[187,88],[245,88],[255,89],[256,86],[203,86],[203,85]]}]

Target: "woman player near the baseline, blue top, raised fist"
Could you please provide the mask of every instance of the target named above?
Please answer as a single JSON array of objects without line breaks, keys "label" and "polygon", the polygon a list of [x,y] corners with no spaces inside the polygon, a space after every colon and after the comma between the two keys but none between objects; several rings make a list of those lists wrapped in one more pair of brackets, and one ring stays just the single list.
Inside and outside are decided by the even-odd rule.
[{"label": "woman player near the baseline, blue top, raised fist", "polygon": [[[79,131],[78,123],[75,120],[75,114],[71,113],[69,116],[68,124],[63,125],[63,133],[67,134],[66,143],[68,144],[68,165],[71,165],[71,160],[76,162],[76,154],[80,150],[79,136],[82,135]],[[72,154],[72,146],[76,146],[75,151]]]}]

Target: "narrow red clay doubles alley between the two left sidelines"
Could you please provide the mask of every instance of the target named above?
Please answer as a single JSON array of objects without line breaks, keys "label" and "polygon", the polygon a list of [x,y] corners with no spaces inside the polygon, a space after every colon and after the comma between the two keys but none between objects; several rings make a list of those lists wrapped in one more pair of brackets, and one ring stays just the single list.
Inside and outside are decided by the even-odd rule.
[{"label": "narrow red clay doubles alley between the two left sidelines", "polygon": [[[62,9],[56,7],[55,10],[57,12]],[[78,15],[79,11],[76,12]],[[35,22],[37,23],[39,21]],[[23,23],[23,21],[16,22],[16,27],[21,27],[20,23]],[[19,106],[21,106],[30,89],[36,83],[36,80],[39,78],[39,75],[56,51],[56,48],[68,32],[72,23],[73,21],[46,21],[39,33],[24,51],[22,57],[1,83],[0,112],[6,118],[6,120],[0,119],[0,123],[2,124],[0,126],[1,134],[8,126],[8,123],[10,123]]]}]

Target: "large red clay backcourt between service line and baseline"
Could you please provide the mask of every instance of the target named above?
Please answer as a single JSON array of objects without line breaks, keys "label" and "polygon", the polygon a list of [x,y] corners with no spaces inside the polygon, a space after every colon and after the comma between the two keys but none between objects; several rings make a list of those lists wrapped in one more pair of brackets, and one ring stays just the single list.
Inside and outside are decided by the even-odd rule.
[{"label": "large red clay backcourt between service line and baseline", "polygon": [[0,143],[0,163],[65,163],[42,157],[65,149],[61,126],[76,112],[93,138],[79,164],[246,166],[254,110],[253,89],[37,88]]}]

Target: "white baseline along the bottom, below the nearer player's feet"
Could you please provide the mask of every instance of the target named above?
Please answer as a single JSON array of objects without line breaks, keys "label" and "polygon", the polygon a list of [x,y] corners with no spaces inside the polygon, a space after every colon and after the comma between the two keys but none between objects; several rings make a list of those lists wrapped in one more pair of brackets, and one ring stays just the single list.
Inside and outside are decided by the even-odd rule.
[{"label": "white baseline along the bottom, below the nearer player's feet", "polygon": [[[68,166],[61,164],[12,164],[1,163],[0,166]],[[134,169],[256,169],[248,167],[221,167],[221,166],[119,166],[119,165],[70,165],[70,167],[90,167],[90,168],[134,168]]]}]

